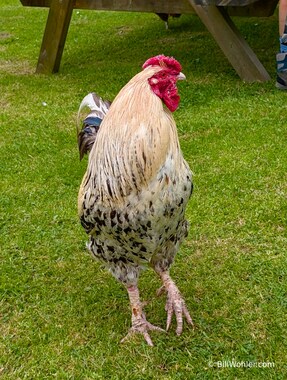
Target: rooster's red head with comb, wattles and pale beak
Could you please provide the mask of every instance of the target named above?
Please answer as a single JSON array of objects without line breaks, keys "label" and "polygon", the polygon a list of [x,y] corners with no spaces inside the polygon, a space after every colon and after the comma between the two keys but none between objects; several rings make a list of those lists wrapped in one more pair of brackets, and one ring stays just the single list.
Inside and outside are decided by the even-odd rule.
[{"label": "rooster's red head with comb, wattles and pale beak", "polygon": [[171,112],[174,112],[180,100],[176,81],[185,79],[185,75],[181,72],[180,63],[172,57],[157,55],[156,57],[149,58],[143,64],[143,69],[150,66],[158,66],[160,68],[159,71],[148,79],[152,91],[162,99]]}]

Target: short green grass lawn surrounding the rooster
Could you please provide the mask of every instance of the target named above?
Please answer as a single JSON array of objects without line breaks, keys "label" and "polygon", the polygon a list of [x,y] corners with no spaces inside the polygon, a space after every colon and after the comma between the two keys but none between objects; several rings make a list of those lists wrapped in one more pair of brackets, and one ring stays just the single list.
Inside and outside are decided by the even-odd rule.
[{"label": "short green grass lawn surrounding the rooster", "polygon": [[[0,0],[1,379],[285,379],[286,94],[275,89],[277,15],[235,19],[272,76],[243,83],[195,16],[79,11],[60,73],[35,75],[47,9]],[[148,57],[174,55],[187,81],[175,113],[195,191],[172,275],[196,329],[120,345],[125,290],[94,262],[77,218],[75,121],[82,97],[113,99]],[[46,106],[44,105],[46,104]],[[140,280],[150,322],[164,299]],[[217,361],[272,362],[223,368]],[[215,364],[214,364],[215,363]],[[213,365],[214,364],[214,365]]]}]

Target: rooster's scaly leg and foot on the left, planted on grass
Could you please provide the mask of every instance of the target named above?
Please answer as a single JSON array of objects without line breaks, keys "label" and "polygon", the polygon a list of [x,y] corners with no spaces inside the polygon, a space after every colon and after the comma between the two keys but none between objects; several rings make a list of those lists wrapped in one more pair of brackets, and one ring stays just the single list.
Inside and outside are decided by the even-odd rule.
[{"label": "rooster's scaly leg and foot on the left, planted on grass", "polygon": [[163,331],[160,327],[154,326],[146,320],[145,314],[142,310],[142,303],[139,297],[138,287],[133,285],[127,287],[129,294],[130,305],[132,310],[132,327],[128,334],[121,340],[121,343],[127,340],[133,334],[141,334],[145,338],[149,346],[153,346],[151,337],[148,331]]}]

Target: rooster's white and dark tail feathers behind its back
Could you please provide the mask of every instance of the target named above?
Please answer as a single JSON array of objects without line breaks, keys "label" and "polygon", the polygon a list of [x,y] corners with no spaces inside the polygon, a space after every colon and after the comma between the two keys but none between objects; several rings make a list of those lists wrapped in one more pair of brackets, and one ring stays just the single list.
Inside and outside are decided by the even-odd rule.
[{"label": "rooster's white and dark tail feathers behind its back", "polygon": [[[78,146],[80,160],[85,153],[90,152],[94,145],[101,122],[110,108],[111,102],[103,100],[95,93],[90,93],[82,100],[77,120]],[[85,118],[83,113],[85,111]],[[83,122],[81,123],[81,120]],[[81,123],[81,126],[80,126]]]}]

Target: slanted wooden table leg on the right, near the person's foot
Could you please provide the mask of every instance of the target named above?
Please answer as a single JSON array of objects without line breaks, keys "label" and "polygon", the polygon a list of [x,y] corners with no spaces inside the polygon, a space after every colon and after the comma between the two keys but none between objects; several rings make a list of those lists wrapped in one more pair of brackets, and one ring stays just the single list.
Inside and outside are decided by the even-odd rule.
[{"label": "slanted wooden table leg on the right, near the person's foot", "polygon": [[201,6],[196,5],[194,0],[189,1],[242,80],[246,82],[270,80],[268,72],[224,8],[214,5]]}]

